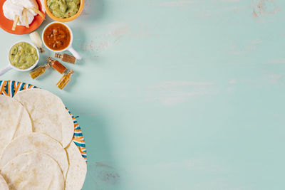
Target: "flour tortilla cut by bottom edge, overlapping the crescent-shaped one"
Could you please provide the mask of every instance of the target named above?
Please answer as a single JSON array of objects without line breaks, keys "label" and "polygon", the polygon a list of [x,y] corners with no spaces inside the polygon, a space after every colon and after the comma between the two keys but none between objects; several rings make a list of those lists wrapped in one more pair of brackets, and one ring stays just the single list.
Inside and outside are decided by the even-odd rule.
[{"label": "flour tortilla cut by bottom edge, overlapping the crescent-shaped one", "polygon": [[46,154],[28,152],[8,162],[1,174],[10,190],[63,190],[64,178],[60,167]]}]

